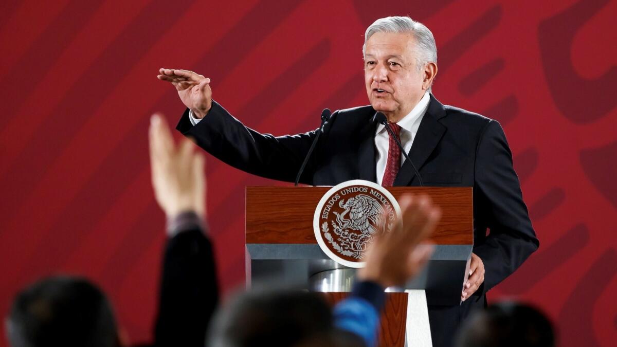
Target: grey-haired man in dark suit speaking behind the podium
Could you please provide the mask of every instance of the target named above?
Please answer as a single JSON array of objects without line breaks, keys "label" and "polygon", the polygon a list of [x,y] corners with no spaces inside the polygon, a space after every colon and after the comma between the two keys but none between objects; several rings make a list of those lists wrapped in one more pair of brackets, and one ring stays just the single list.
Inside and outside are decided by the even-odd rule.
[{"label": "grey-haired man in dark suit speaking behind the podium", "polygon": [[[429,307],[433,345],[449,346],[460,321],[486,306],[486,291],[514,272],[539,242],[499,123],[444,106],[431,93],[437,74],[431,31],[408,17],[379,19],[366,30],[363,52],[371,106],[331,115],[300,182],[336,185],[359,178],[383,186],[419,185],[412,164],[376,119],[383,112],[425,185],[473,187],[474,248],[463,304]],[[209,78],[187,70],[159,73],[187,107],[180,132],[238,169],[294,181],[315,131],[262,135],[212,101]]]}]

